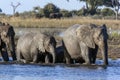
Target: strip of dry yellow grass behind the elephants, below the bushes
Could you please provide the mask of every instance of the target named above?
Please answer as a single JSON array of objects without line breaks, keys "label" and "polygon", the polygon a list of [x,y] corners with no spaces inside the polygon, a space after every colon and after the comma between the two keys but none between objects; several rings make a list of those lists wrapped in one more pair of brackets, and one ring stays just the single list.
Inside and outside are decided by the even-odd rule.
[{"label": "strip of dry yellow grass behind the elephants, below the bushes", "polygon": [[23,19],[23,18],[1,18],[0,21],[7,22],[14,27],[69,27],[74,24],[90,24],[94,23],[97,25],[106,24],[107,27],[113,29],[120,29],[119,20],[105,20],[105,19],[92,19],[90,17],[79,17],[79,18],[65,18],[65,19]]}]

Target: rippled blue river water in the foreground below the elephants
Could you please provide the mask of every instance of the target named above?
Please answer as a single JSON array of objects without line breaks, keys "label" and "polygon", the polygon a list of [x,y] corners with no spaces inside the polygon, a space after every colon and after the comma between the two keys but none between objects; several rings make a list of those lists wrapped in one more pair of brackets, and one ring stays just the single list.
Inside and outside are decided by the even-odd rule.
[{"label": "rippled blue river water in the foreground below the elephants", "polygon": [[0,80],[120,80],[120,59],[109,60],[109,63],[106,69],[0,64]]}]

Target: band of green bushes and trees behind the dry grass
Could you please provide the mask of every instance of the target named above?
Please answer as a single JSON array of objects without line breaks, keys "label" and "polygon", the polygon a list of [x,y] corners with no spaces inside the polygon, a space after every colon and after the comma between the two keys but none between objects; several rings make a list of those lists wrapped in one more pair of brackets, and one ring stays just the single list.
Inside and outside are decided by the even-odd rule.
[{"label": "band of green bushes and trees behind the dry grass", "polygon": [[[112,10],[111,8],[106,8],[106,7],[103,9],[98,8],[99,6],[102,6],[102,5],[112,6],[111,2],[108,2],[110,4],[107,4],[107,2],[105,2],[106,4],[105,3],[103,4],[102,2],[102,1],[109,1],[109,0],[94,0],[94,3],[93,3],[93,0],[80,0],[80,1],[84,1],[84,2],[86,1],[86,6],[83,6],[79,10],[68,11],[65,9],[60,9],[59,7],[57,7],[52,3],[48,3],[43,8],[41,8],[40,6],[35,6],[31,11],[25,11],[22,13],[14,11],[14,14],[12,16],[40,19],[40,18],[50,18],[50,14],[57,13],[57,14],[61,14],[62,18],[66,18],[66,17],[69,18],[74,16],[89,16],[89,15],[91,16],[100,15],[102,17],[105,17],[105,16],[111,16],[111,15],[115,16],[115,13],[116,13],[115,10],[118,10],[116,9],[115,4],[113,6],[115,7],[115,10]],[[61,17],[53,17],[53,18],[61,18]]]}]

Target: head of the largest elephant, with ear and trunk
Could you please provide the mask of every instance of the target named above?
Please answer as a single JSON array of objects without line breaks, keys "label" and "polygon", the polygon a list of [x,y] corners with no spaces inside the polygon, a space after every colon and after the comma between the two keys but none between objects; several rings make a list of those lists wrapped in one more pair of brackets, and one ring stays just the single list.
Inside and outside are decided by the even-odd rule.
[{"label": "head of the largest elephant, with ear and trunk", "polygon": [[108,65],[108,34],[106,25],[81,25],[76,30],[76,35],[80,41],[86,44],[87,47],[93,49],[95,49],[96,46],[99,47],[102,53],[104,64]]}]

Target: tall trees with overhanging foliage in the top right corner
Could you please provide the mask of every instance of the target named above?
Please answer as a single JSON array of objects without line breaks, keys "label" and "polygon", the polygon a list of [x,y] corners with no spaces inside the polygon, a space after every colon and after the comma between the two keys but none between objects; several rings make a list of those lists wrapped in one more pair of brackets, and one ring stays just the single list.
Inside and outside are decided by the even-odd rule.
[{"label": "tall trees with overhanging foliage in the top right corner", "polygon": [[78,0],[78,1],[83,1],[86,3],[86,5],[83,8],[85,13],[89,15],[97,14],[97,9],[100,6],[107,6],[114,8],[116,15],[118,15],[118,11],[120,9],[119,0]]}]

